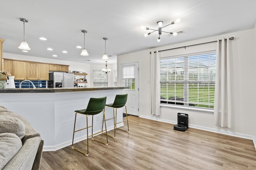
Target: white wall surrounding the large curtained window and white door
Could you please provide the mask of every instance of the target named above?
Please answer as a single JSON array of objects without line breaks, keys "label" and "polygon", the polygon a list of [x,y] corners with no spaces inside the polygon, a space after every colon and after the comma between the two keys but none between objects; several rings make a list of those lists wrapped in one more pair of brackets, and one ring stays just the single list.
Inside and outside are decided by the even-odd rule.
[{"label": "white wall surrounding the large curtained window and white door", "polygon": [[[119,65],[122,63],[140,61],[140,79],[139,79],[139,108],[140,117],[148,119],[158,119],[160,121],[176,123],[177,113],[188,113],[190,127],[200,128],[209,131],[221,132],[224,134],[232,134],[234,136],[241,136],[244,138],[256,137],[256,107],[255,107],[255,30],[244,30],[230,34],[194,40],[190,42],[178,43],[134,53],[128,53],[117,56],[117,69],[119,72]],[[197,43],[211,42],[222,37],[234,37],[231,41],[232,54],[232,69],[233,71],[233,118],[232,128],[220,128],[214,126],[213,113],[206,113],[202,111],[191,111],[174,109],[170,107],[161,107],[161,115],[155,116],[150,114],[150,51],[158,51],[163,49],[170,49],[174,47],[193,45]],[[212,45],[207,45],[207,49],[211,49]],[[194,46],[193,49],[202,49]],[[172,51],[173,54],[189,53],[188,48]],[[193,51],[193,50],[192,50]],[[161,56],[164,53],[161,53]],[[118,75],[118,82],[119,82]]]}]

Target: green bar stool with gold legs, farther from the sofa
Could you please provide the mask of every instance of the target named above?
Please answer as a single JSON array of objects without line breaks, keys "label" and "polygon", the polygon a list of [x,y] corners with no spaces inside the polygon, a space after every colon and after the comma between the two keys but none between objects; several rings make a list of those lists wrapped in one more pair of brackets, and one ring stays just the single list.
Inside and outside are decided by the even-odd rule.
[{"label": "green bar stool with gold legs, farther from the sofa", "polygon": [[[129,132],[129,124],[128,124],[128,115],[127,115],[127,109],[126,109],[126,101],[127,101],[127,96],[128,94],[124,94],[124,95],[116,95],[116,98],[114,100],[114,103],[111,103],[111,104],[106,104],[107,107],[112,107],[113,108],[113,118],[110,118],[110,119],[107,119],[106,121],[108,120],[111,120],[113,119],[114,120],[114,136],[111,136],[112,138],[115,138],[116,137],[116,129],[119,129],[119,130],[123,130],[125,132]],[[116,122],[116,116],[115,116],[115,108],[116,108],[116,113],[117,113],[117,109],[118,108],[121,108],[121,107],[125,107],[125,111],[126,111],[126,120],[124,121],[121,121],[121,122]],[[116,114],[117,115],[117,114]],[[124,129],[121,129],[121,128],[118,128],[116,127],[117,124],[119,123],[123,123],[123,122],[127,122],[127,128],[128,130],[124,130]],[[102,129],[103,129],[103,123],[102,123]]]}]

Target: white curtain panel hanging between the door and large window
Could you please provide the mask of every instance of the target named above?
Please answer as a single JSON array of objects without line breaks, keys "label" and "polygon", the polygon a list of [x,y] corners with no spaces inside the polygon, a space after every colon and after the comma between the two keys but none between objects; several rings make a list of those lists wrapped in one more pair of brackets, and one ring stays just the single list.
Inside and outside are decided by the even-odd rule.
[{"label": "white curtain panel hanging between the door and large window", "polygon": [[160,55],[151,51],[151,114],[160,115]]}]

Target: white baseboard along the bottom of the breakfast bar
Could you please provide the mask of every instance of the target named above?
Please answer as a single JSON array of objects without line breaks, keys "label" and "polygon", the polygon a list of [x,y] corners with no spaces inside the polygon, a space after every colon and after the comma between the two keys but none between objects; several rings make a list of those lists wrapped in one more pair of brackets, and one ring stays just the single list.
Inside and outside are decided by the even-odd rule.
[{"label": "white baseboard along the bottom of the breakfast bar", "polygon": [[[119,123],[116,127],[122,127],[122,126],[124,126],[124,123]],[[114,126],[108,127],[108,131],[113,130],[113,129],[114,129]],[[100,130],[98,132],[100,132]],[[95,132],[95,133],[97,133],[97,132]],[[101,133],[99,133],[99,134],[101,134]],[[95,136],[97,136],[99,134],[96,134]],[[81,142],[82,140],[85,140],[86,138],[87,138],[86,136],[74,138],[74,143]],[[55,146],[43,146],[43,152],[56,151],[61,148],[65,148],[66,146],[70,146],[71,144],[72,144],[72,140],[69,140],[69,141],[57,144]]]}]

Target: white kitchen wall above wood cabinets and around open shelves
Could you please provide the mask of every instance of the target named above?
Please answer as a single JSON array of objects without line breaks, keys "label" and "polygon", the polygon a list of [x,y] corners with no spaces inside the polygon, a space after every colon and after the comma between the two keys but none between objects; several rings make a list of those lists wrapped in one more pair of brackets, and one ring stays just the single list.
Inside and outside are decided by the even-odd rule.
[{"label": "white kitchen wall above wood cabinets and around open shelves", "polygon": [[[87,86],[90,87],[90,64],[86,63],[76,63],[72,61],[61,61],[57,59],[47,59],[42,57],[33,57],[33,56],[27,56],[27,55],[18,55],[18,54],[12,54],[12,53],[3,53],[3,58],[6,59],[16,59],[16,60],[24,60],[24,61],[36,61],[36,62],[42,62],[42,63],[54,63],[54,64],[63,64],[63,65],[70,65],[69,70],[70,71],[83,71],[88,73],[87,78]],[[79,77],[79,76],[77,76]],[[79,77],[79,78],[83,78]],[[80,83],[81,85],[84,85]]]}]

